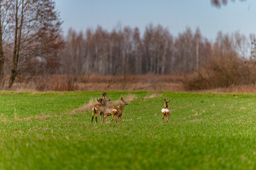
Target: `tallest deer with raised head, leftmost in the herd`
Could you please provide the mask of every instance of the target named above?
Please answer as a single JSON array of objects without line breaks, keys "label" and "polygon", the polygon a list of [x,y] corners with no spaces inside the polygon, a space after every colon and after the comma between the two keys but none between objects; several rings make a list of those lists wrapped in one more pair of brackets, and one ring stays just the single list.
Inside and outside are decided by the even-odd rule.
[{"label": "tallest deer with raised head, leftmost in the herd", "polygon": [[[91,123],[93,123],[95,114],[96,114],[96,118],[95,118],[96,123],[98,123],[97,118],[99,115],[101,115],[101,123],[104,123],[104,115],[106,114],[105,113],[106,112],[105,111],[106,110],[106,102],[111,101],[111,100],[108,98],[106,91],[103,91],[102,95],[103,95],[103,99],[102,98],[97,99],[98,103],[94,104],[94,106],[91,109],[91,111],[92,111]],[[108,118],[106,118],[106,121],[108,121]]]}]

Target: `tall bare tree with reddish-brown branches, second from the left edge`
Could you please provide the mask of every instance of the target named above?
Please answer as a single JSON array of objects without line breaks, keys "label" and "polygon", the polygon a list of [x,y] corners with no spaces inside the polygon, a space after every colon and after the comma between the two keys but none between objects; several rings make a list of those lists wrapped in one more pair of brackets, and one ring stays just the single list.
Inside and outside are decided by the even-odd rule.
[{"label": "tall bare tree with reddish-brown branches, second from the left edge", "polygon": [[[11,1],[13,55],[9,87],[13,85],[24,63],[33,57],[44,57],[48,70],[57,66],[57,51],[62,47],[59,14],[52,0]],[[53,57],[54,56],[54,57]],[[20,70],[21,71],[21,70]],[[21,73],[21,72],[20,72]]]}]

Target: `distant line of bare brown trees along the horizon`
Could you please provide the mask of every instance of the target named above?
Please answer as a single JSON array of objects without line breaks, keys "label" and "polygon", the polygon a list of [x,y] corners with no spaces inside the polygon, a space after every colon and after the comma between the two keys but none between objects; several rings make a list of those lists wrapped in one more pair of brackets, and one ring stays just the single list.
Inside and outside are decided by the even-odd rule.
[{"label": "distant line of bare brown trees along the horizon", "polygon": [[220,51],[250,55],[250,40],[239,32],[219,32],[211,42],[199,28],[174,37],[160,25],[147,26],[143,34],[128,26],[112,31],[98,26],[85,33],[70,28],[65,42],[59,71],[72,74],[179,74],[194,72]]}]

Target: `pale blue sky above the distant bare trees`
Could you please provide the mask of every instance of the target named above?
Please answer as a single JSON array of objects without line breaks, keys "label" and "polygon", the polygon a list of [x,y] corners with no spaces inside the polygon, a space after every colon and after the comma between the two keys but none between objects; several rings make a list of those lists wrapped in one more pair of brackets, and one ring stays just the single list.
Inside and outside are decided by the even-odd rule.
[{"label": "pale blue sky above the distant bare trees", "polygon": [[55,0],[62,28],[85,31],[101,26],[112,30],[116,26],[140,28],[160,24],[177,36],[186,27],[200,28],[202,35],[215,40],[219,30],[233,33],[239,30],[249,36],[256,34],[256,1],[238,0],[216,8],[210,0]]}]

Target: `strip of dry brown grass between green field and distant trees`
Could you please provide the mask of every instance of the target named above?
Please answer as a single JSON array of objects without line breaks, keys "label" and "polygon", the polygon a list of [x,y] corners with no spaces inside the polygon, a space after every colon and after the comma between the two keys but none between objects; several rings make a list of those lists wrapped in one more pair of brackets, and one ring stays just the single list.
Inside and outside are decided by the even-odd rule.
[{"label": "strip of dry brown grass between green field and distant trees", "polygon": [[[126,80],[124,80],[126,79]],[[97,74],[70,76],[68,74],[41,75],[33,79],[17,79],[14,91],[183,91],[183,75],[101,76]],[[126,81],[123,86],[123,81]]]}]

